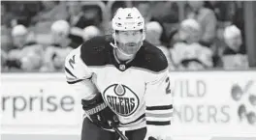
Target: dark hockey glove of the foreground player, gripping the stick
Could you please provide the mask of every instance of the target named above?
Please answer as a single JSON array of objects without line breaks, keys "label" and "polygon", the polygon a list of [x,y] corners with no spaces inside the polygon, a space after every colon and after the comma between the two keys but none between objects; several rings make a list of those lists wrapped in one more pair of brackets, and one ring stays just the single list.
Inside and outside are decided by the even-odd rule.
[{"label": "dark hockey glove of the foreground player, gripping the stick", "polygon": [[111,129],[112,126],[118,126],[119,120],[112,112],[112,109],[105,103],[101,94],[90,100],[81,99],[82,109],[96,126]]}]

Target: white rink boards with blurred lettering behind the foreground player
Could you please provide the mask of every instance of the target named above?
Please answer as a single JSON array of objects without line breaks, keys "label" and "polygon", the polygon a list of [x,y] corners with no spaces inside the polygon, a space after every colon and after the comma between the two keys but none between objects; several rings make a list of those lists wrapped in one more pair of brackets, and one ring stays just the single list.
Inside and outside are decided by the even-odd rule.
[{"label": "white rink boards with blurred lettering behind the foreground player", "polygon": [[[256,112],[247,99],[256,94],[256,71],[172,72],[170,77],[175,112],[168,131],[177,140],[256,137],[253,119],[238,114],[240,104]],[[2,139],[80,139],[80,97],[63,73],[4,73],[1,83]],[[236,93],[242,96],[236,99]]]}]

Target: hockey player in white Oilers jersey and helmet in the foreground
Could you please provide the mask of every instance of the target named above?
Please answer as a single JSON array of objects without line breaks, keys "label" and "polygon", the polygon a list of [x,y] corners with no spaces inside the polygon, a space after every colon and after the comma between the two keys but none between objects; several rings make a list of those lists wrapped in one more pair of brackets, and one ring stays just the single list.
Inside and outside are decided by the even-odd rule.
[{"label": "hockey player in white Oilers jersey and helmet in the foreground", "polygon": [[67,82],[82,96],[87,116],[81,140],[117,140],[112,126],[129,140],[165,140],[173,111],[167,59],[144,42],[144,17],[136,8],[119,8],[112,30],[66,58]]}]

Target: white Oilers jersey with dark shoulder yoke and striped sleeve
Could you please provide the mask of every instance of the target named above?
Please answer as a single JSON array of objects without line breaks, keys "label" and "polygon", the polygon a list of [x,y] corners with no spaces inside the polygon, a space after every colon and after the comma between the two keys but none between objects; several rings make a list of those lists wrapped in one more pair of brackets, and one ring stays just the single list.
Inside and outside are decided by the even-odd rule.
[{"label": "white Oilers jersey with dark shoulder yoke and striped sleeve", "polygon": [[[96,37],[74,49],[65,62],[67,82],[82,89],[89,86],[83,81],[92,80],[118,116],[121,130],[170,126],[172,91],[164,54],[144,42],[133,60],[120,62],[111,42],[109,36]],[[83,96],[90,97],[85,91]]]}]

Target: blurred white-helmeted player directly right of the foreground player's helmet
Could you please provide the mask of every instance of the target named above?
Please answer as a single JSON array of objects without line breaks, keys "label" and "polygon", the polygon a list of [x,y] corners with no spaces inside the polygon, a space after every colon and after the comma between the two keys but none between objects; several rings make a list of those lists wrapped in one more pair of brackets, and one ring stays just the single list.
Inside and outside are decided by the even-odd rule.
[{"label": "blurred white-helmeted player directly right of the foreground player's helmet", "polygon": [[158,22],[156,22],[156,21],[151,21],[151,22],[148,22],[145,25],[145,28],[146,28],[145,40],[147,42],[150,42],[150,43],[154,44],[158,48],[160,48],[163,51],[163,53],[165,54],[169,66],[171,66],[172,63],[171,63],[170,51],[160,41],[160,37],[161,37],[161,34],[163,32],[162,26]]}]

